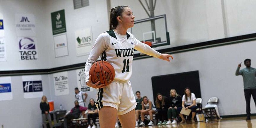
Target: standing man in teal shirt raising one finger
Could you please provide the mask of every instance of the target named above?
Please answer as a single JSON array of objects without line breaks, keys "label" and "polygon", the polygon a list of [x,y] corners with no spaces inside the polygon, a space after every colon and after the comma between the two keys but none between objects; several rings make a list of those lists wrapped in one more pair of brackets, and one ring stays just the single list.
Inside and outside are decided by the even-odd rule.
[{"label": "standing man in teal shirt raising one finger", "polygon": [[246,120],[251,119],[251,108],[250,108],[250,101],[251,101],[251,95],[254,100],[255,106],[256,106],[256,69],[251,67],[251,60],[245,59],[244,65],[246,68],[243,68],[241,70],[241,63],[238,64],[238,67],[236,69],[236,76],[242,75],[244,80],[244,97],[246,101]]}]

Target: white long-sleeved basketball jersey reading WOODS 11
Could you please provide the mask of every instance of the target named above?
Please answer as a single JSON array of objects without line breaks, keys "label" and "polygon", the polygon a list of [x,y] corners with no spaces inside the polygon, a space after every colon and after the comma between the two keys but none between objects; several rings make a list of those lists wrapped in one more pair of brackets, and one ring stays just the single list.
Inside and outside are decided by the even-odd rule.
[{"label": "white long-sleeved basketball jersey reading WOODS 11", "polygon": [[129,81],[132,75],[132,60],[134,50],[159,57],[161,53],[155,51],[147,44],[141,43],[131,33],[120,35],[113,30],[102,33],[95,41],[92,51],[86,61],[85,76],[89,80],[89,70],[98,59],[108,61],[115,69],[116,81]]}]

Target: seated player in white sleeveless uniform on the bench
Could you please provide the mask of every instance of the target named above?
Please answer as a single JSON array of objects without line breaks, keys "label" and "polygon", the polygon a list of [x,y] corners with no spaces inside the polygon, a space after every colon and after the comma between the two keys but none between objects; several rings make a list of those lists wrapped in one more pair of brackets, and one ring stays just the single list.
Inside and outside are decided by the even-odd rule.
[{"label": "seated player in white sleeveless uniform on the bench", "polygon": [[157,109],[155,108],[151,100],[148,100],[147,96],[143,96],[142,99],[143,101],[141,102],[142,110],[140,111],[140,114],[141,114],[140,126],[145,126],[145,123],[144,123],[145,115],[150,116],[150,122],[148,123],[148,125],[154,125],[153,114],[156,113]]}]

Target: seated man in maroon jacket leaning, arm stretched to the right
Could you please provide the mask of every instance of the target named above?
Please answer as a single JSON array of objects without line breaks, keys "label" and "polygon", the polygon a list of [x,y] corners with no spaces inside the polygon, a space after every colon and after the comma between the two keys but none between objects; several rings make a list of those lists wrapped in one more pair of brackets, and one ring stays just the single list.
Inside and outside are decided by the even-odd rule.
[{"label": "seated man in maroon jacket leaning, arm stretched to the right", "polygon": [[78,119],[83,111],[86,111],[86,107],[79,106],[78,101],[75,101],[75,107],[70,110],[70,113],[64,116],[64,128],[68,128],[68,121],[71,119]]}]

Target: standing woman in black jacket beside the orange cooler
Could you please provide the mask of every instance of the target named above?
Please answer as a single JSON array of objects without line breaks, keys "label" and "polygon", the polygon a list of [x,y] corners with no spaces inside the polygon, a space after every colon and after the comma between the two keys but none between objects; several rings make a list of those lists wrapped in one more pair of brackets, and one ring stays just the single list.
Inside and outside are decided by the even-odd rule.
[{"label": "standing woman in black jacket beside the orange cooler", "polygon": [[49,125],[52,128],[52,119],[51,119],[51,115],[49,113],[50,106],[49,106],[46,96],[43,96],[41,99],[40,109],[42,111],[42,120],[43,120],[44,128],[47,128],[46,127],[46,118],[48,119]]}]

